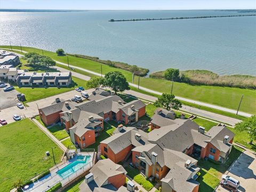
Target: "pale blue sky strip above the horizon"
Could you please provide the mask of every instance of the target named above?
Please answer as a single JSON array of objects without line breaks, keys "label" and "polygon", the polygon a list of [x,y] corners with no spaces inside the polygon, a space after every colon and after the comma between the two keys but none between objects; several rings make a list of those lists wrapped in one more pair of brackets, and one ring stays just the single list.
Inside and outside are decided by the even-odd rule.
[{"label": "pale blue sky strip above the horizon", "polygon": [[256,9],[256,0],[0,0],[0,8],[61,10]]}]

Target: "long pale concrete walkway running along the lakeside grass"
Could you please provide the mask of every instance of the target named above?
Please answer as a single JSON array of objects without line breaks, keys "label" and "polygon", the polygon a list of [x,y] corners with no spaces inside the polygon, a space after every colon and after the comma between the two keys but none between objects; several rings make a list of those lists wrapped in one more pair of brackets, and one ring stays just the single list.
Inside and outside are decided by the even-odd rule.
[{"label": "long pale concrete walkway running along the lakeside grass", "polygon": [[[10,49],[8,49],[8,50],[10,50]],[[13,49],[13,50],[14,51],[20,51],[20,50],[15,50],[15,49]],[[23,51],[23,52],[27,53],[26,51]],[[57,62],[57,63],[59,63],[60,65],[63,65],[63,66],[68,66],[68,64],[63,63],[63,62],[59,62],[59,61],[55,61],[55,62]],[[97,75],[97,76],[101,76],[101,74],[99,74],[99,73],[95,73],[94,71],[90,71],[90,70],[87,70],[87,69],[84,69],[84,68],[81,68],[81,67],[76,67],[76,66],[72,66],[72,65],[69,65],[69,67],[76,68],[76,69],[79,69],[79,70],[83,70],[83,71],[86,71],[87,73],[91,73],[91,74],[94,74],[94,75]],[[102,75],[102,76],[105,76],[105,75]],[[131,85],[133,87],[138,87],[138,85],[133,84],[133,83],[129,83],[129,85]],[[147,88],[142,87],[142,86],[140,86],[140,89],[143,90],[143,91],[147,91],[149,93],[154,93],[154,94],[162,95],[161,92],[150,90],[150,89],[147,89]],[[187,99],[187,98],[182,98],[182,97],[178,97],[178,96],[175,97],[175,98],[177,98],[177,99],[179,99],[181,101],[187,101],[187,102],[195,103],[197,105],[201,105],[201,106],[205,106],[205,107],[211,107],[211,108],[214,108],[214,109],[219,109],[219,110],[222,110],[222,111],[227,111],[229,113],[236,114],[236,110],[233,110],[233,109],[228,109],[228,108],[225,108],[225,107],[220,107],[220,106],[212,105],[212,104],[209,104],[209,103],[205,103],[205,102],[201,102],[201,101],[196,101],[196,100],[191,100],[191,99]],[[251,117],[252,116],[251,114],[244,113],[242,111],[239,111],[238,115],[242,115],[242,116],[245,116],[245,117]]]}]

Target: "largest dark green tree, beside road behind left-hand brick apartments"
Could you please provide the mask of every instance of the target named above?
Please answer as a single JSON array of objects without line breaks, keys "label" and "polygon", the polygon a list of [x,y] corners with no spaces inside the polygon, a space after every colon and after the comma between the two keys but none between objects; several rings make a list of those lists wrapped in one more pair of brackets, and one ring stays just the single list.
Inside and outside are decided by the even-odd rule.
[{"label": "largest dark green tree, beside road behind left-hand brick apartments", "polygon": [[105,75],[104,85],[115,91],[130,90],[129,83],[125,76],[119,71],[111,71]]}]

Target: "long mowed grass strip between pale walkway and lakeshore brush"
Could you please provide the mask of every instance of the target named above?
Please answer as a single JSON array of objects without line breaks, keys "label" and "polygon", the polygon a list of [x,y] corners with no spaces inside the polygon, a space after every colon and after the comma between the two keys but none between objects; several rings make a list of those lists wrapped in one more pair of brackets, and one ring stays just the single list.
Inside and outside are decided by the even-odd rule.
[{"label": "long mowed grass strip between pale walkway and lakeshore brush", "polygon": [[[10,49],[10,46],[0,45],[2,48]],[[13,49],[20,50],[19,46],[12,46]],[[33,47],[22,47],[23,51],[28,52],[37,52],[42,54],[41,49],[36,49]],[[54,60],[67,63],[67,57],[65,56],[57,56],[55,52],[45,51],[44,55],[51,57]],[[101,63],[76,58],[73,56],[69,56],[70,65],[81,67],[84,69],[88,69],[97,73],[101,73]],[[102,65],[102,73],[106,74],[109,71],[121,71],[124,76],[127,78],[127,81],[132,81],[132,73],[130,71],[126,71],[123,69],[113,68],[107,65]],[[79,71],[78,71],[79,73]],[[134,83],[138,84],[138,77],[134,78]],[[155,79],[155,78],[140,78],[140,85],[146,87],[151,90],[155,90],[162,93],[170,93],[172,82],[165,81],[163,79]],[[256,114],[256,92],[255,90],[247,90],[247,89],[239,89],[232,87],[221,87],[221,86],[205,86],[205,85],[189,85],[186,83],[178,83],[175,82],[173,86],[173,93],[177,96],[198,100],[206,103],[211,103],[213,105],[218,105],[230,109],[237,109],[239,105],[239,101],[244,94],[244,98],[241,104],[241,111],[250,114]]]}]

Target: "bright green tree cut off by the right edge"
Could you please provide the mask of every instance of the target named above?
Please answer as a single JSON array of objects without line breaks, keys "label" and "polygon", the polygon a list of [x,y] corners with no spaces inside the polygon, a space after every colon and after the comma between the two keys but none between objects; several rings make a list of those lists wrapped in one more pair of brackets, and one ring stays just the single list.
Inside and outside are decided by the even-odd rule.
[{"label": "bright green tree cut off by the right edge", "polygon": [[250,136],[250,145],[252,145],[252,141],[256,140],[256,115],[237,123],[235,129],[248,133]]}]

